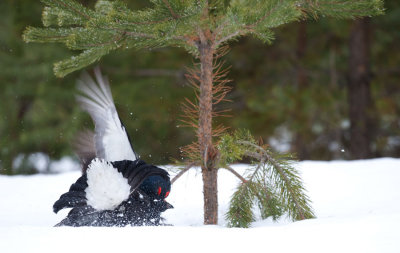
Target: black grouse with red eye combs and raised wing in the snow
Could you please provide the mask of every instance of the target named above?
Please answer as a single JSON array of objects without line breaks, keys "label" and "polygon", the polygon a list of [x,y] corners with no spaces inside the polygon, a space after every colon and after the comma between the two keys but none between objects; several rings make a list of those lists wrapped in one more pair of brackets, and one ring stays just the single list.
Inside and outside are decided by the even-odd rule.
[{"label": "black grouse with red eye combs and raised wing in the snow", "polygon": [[54,203],[53,211],[72,208],[56,226],[164,225],[161,213],[173,208],[165,199],[171,182],[166,170],[141,160],[116,110],[108,79],[100,68],[95,80],[86,72],[76,99],[95,130],[77,135],[74,149],[82,175]]}]

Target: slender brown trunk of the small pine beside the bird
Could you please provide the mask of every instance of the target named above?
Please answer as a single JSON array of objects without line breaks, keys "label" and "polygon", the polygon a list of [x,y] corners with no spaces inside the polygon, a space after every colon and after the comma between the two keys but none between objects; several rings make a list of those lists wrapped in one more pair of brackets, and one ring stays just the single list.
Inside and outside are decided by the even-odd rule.
[{"label": "slender brown trunk of the small pine beside the bird", "polygon": [[204,194],[204,224],[218,223],[218,168],[215,167],[215,148],[212,143],[212,46],[207,41],[199,44],[201,73],[199,96],[198,139],[202,155],[202,175]]}]

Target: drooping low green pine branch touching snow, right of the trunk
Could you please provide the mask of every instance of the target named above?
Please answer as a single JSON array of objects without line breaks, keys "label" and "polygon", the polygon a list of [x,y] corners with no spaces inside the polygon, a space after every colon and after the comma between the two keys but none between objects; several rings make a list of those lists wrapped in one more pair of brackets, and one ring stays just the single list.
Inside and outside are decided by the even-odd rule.
[{"label": "drooping low green pine branch touching snow, right of the trunk", "polygon": [[293,156],[273,153],[258,145],[245,130],[222,136],[218,148],[222,167],[245,156],[253,160],[246,172],[246,182],[241,183],[230,202],[226,215],[230,226],[250,226],[255,203],[263,219],[276,220],[284,213],[292,220],[315,217],[299,173],[292,165]]}]

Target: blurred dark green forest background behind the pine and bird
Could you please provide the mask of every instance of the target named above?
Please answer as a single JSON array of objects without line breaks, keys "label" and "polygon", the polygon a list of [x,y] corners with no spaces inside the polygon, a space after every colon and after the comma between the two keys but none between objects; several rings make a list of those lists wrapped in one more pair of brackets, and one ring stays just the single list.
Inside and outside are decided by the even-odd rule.
[{"label": "blurred dark green forest background behind the pine and bird", "polygon": [[[26,26],[41,26],[42,8],[37,0],[0,1],[0,174],[38,172],[31,162],[38,154],[48,170],[51,161],[73,156],[77,132],[93,127],[75,102],[79,73],[53,74],[53,63],[72,53],[21,39]],[[232,102],[222,106],[232,117],[217,120],[301,160],[400,157],[400,2],[385,1],[385,8],[374,18],[289,24],[276,30],[272,45],[231,43],[225,60]],[[177,48],[124,51],[100,62],[147,162],[180,159],[180,147],[195,138],[179,126],[180,104],[194,95],[185,79],[192,65]]]}]

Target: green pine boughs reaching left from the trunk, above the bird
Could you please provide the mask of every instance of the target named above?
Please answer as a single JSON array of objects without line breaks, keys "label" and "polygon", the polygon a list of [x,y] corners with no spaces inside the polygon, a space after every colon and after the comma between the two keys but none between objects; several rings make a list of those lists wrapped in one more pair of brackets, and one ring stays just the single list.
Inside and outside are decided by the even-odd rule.
[{"label": "green pine boughs reaching left from the trunk, above the bird", "polygon": [[[130,11],[118,0],[98,1],[94,10],[74,0],[42,2],[46,5],[42,21],[48,28],[28,27],[24,40],[62,42],[72,50],[83,51],[76,57],[56,63],[57,76],[86,67],[118,48],[179,46],[197,54],[192,36],[194,30],[188,26],[194,27],[191,24],[198,23],[197,16],[203,4],[154,0],[153,9]],[[54,25],[60,28],[51,27]]]}]

